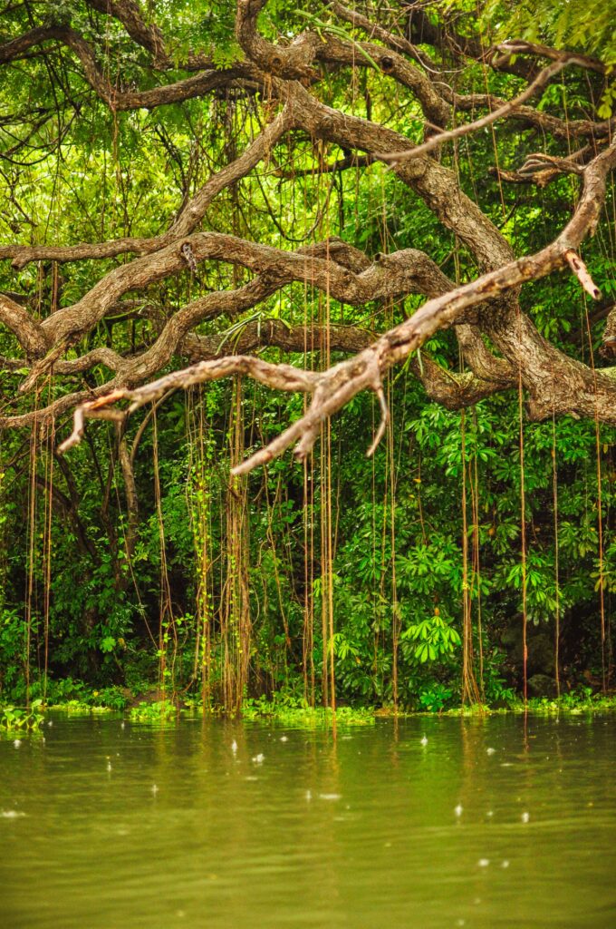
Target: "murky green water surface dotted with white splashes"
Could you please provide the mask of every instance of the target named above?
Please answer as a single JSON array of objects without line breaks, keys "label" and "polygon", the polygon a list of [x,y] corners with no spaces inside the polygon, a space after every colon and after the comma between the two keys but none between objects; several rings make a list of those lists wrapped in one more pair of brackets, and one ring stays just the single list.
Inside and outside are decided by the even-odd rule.
[{"label": "murky green water surface dotted with white splashes", "polygon": [[0,741],[2,929],[616,927],[613,716],[44,735]]}]

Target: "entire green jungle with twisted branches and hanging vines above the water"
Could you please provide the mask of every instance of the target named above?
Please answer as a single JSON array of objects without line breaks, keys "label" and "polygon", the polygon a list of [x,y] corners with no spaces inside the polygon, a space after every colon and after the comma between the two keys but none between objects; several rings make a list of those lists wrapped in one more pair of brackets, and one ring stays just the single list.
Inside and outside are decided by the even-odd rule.
[{"label": "entire green jungle with twisted branches and hanging vines above the water", "polygon": [[578,7],[2,0],[0,696],[610,687]]}]

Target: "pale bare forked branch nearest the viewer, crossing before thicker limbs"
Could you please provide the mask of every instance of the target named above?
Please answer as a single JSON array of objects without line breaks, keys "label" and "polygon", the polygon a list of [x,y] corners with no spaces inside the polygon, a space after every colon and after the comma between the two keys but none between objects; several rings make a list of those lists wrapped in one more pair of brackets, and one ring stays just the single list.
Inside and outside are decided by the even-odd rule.
[{"label": "pale bare forked branch nearest the viewer, crossing before thicker limbs", "polygon": [[[276,386],[277,389],[283,390],[310,391],[314,396],[308,411],[299,420],[289,425],[266,448],[237,465],[233,473],[245,474],[260,464],[267,464],[293,444],[296,445],[296,456],[300,459],[305,458],[314,446],[324,419],[340,411],[362,390],[371,389],[379,393],[382,377],[393,364],[407,358],[440,328],[456,323],[466,308],[485,301],[487,297],[494,297],[511,288],[519,287],[525,281],[545,277],[556,268],[564,267],[567,262],[571,264],[571,251],[582,242],[597,222],[602,203],[601,193],[605,190],[606,177],[615,164],[616,142],[610,146],[610,150],[599,155],[584,172],[584,192],[576,213],[555,242],[536,255],[509,262],[502,268],[482,275],[476,281],[435,297],[418,309],[410,319],[382,335],[372,346],[354,358],[341,361],[322,374],[306,372],[289,365],[267,365],[263,370],[254,359],[248,360],[241,356],[203,361],[183,372],[168,374],[152,385],[136,390],[116,390],[107,398],[83,404],[75,412],[73,432],[71,437],[62,443],[62,451],[67,451],[80,440],[86,418],[122,419],[143,404],[159,399],[171,388],[193,386],[240,371],[268,386]],[[600,372],[591,373],[584,365],[565,359],[564,356],[562,359],[561,367],[566,364],[573,379],[577,377],[584,384],[592,374],[592,383],[586,394],[569,397],[568,412],[581,409],[588,414],[592,410],[600,410],[602,419],[616,424],[616,380]],[[556,371],[552,371],[551,375],[553,380],[558,378]],[[532,376],[533,372],[524,373],[525,378]],[[122,412],[114,406],[121,399],[131,401],[127,412]]]}]

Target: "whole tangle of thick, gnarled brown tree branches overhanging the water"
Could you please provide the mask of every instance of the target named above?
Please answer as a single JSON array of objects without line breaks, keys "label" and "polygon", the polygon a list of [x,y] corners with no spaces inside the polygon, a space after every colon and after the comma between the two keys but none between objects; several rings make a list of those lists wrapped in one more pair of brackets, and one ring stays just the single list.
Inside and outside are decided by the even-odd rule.
[{"label": "whole tangle of thick, gnarled brown tree branches overhanging the water", "polygon": [[[137,255],[122,267],[112,268],[72,306],[57,309],[58,301],[54,298],[51,302],[55,311],[40,322],[13,300],[10,294],[0,298],[0,322],[16,336],[26,356],[24,361],[6,360],[6,368],[17,371],[21,365],[30,367],[30,374],[21,385],[22,391],[36,387],[39,379],[52,370],[58,375],[71,378],[102,365],[112,373],[106,386],[63,396],[44,410],[19,413],[12,417],[6,415],[0,419],[0,425],[45,424],[50,417],[67,412],[72,404],[84,400],[88,402],[83,407],[83,416],[120,421],[125,412],[109,404],[106,397],[109,390],[114,391],[112,397],[116,400],[127,399],[133,404],[148,402],[153,396],[154,386],[139,385],[156,376],[174,356],[187,353],[193,359],[206,359],[203,362],[205,367],[197,366],[199,371],[189,369],[186,373],[174,373],[170,375],[171,382],[165,382],[164,378],[156,381],[155,393],[162,388],[163,383],[167,385],[164,389],[169,390],[186,386],[186,378],[186,383],[196,383],[191,379],[198,377],[211,380],[229,373],[247,373],[270,386],[302,389],[313,394],[313,402],[306,416],[276,438],[274,446],[261,451],[250,464],[242,465],[248,469],[255,463],[270,460],[274,454],[294,442],[297,443],[300,457],[307,454],[318,436],[323,417],[339,410],[361,389],[371,389],[379,397],[382,412],[380,434],[387,420],[382,377],[391,365],[413,354],[430,334],[451,325],[456,327],[457,338],[471,373],[446,372],[427,360],[423,369],[419,367],[418,376],[426,384],[430,396],[439,396],[443,403],[459,406],[474,401],[471,398],[478,399],[488,396],[494,390],[507,389],[516,382],[521,372],[523,385],[530,395],[533,416],[572,412],[597,415],[606,422],[614,421],[615,386],[612,373],[595,373],[567,358],[541,337],[530,319],[520,313],[518,304],[518,291],[525,281],[536,280],[554,269],[569,268],[589,294],[593,297],[598,294],[598,287],[590,278],[577,249],[584,236],[595,228],[605,197],[605,177],[614,164],[613,144],[608,147],[614,120],[594,123],[589,118],[567,123],[527,105],[528,100],[541,92],[567,64],[574,63],[584,69],[603,73],[602,66],[597,67],[597,62],[584,56],[572,56],[570,53],[555,52],[528,43],[500,46],[498,57],[497,49],[486,50],[472,38],[466,39],[453,33],[448,26],[444,31],[432,29],[430,33],[430,23],[426,20],[425,25],[430,33],[428,41],[436,48],[444,49],[447,55],[452,53],[460,62],[465,55],[471,55],[486,65],[515,72],[530,82],[517,97],[509,101],[490,94],[465,96],[457,93],[456,83],[448,86],[444,81],[446,73],[435,72],[431,59],[417,50],[414,44],[417,36],[412,30],[410,38],[396,36],[389,29],[380,25],[373,26],[363,15],[336,3],[333,7],[335,15],[349,22],[353,29],[367,34],[370,41],[355,42],[350,36],[347,41],[343,34],[336,33],[333,26],[321,22],[319,28],[322,34],[302,33],[296,38],[289,38],[287,33],[281,31],[279,41],[275,44],[263,38],[257,29],[257,17],[263,9],[264,0],[240,0],[237,7],[237,39],[247,60],[232,67],[217,67],[212,61],[191,52],[178,64],[169,57],[168,48],[173,48],[173,42],[165,41],[160,29],[149,22],[135,0],[85,2],[96,12],[109,15],[122,23],[127,35],[138,46],[136,59],[134,56],[126,74],[133,73],[135,62],[137,66],[143,67],[142,49],[148,52],[154,67],[161,72],[171,71],[172,67],[185,72],[195,68],[205,68],[205,71],[185,80],[141,91],[135,90],[120,68],[117,85],[112,85],[108,72],[98,64],[93,46],[83,35],[60,25],[37,27],[30,33],[9,40],[0,46],[0,63],[22,61],[39,55],[45,56],[45,61],[51,61],[48,44],[56,43],[60,46],[59,64],[61,67],[68,66],[71,74],[70,81],[62,85],[62,93],[66,94],[74,79],[81,86],[83,75],[84,80],[112,111],[177,102],[202,96],[217,87],[236,88],[238,82],[241,82],[243,88],[260,89],[263,94],[263,112],[267,112],[266,119],[271,122],[239,158],[230,156],[229,164],[212,175],[186,203],[170,229],[160,236],[123,238],[115,242],[68,247],[25,248],[7,245],[0,248],[0,258],[12,258],[16,269],[24,268],[28,262],[36,260],[73,261],[84,258],[109,259],[123,254]],[[414,16],[412,12],[412,20]],[[127,40],[122,38],[122,48],[126,44]],[[64,47],[70,50],[70,55],[63,51]],[[512,62],[513,54],[546,58],[550,63],[540,72],[534,61],[529,63],[518,59]],[[71,63],[73,56],[78,61],[76,73],[79,76],[76,78]],[[147,63],[145,67],[151,79],[150,64]],[[369,73],[366,74],[365,82],[362,78],[366,88],[369,84],[370,93],[375,86],[379,87],[379,93],[381,90],[386,93],[388,84],[381,80],[383,77],[391,78],[397,85],[408,89],[418,103],[418,106],[414,100],[410,103],[409,111],[413,121],[417,118],[419,108],[425,115],[425,144],[410,148],[409,138],[401,133],[371,119],[355,116],[353,104],[349,105],[351,112],[324,104],[317,97],[324,72],[341,68],[349,69],[353,80],[359,68],[375,72],[377,76],[374,78]],[[328,93],[329,89],[323,84],[323,92],[326,91]],[[408,95],[401,96],[404,96],[404,106],[407,106]],[[361,111],[364,111],[363,105],[362,102]],[[272,119],[271,113],[280,107],[282,111]],[[447,126],[451,126],[456,111],[474,111],[478,107],[487,107],[490,112],[471,124],[457,126],[429,138],[435,127],[446,130]],[[370,112],[370,109],[366,102],[366,111]],[[377,108],[372,108],[372,112],[376,111]],[[588,113],[592,114],[591,103]],[[440,164],[430,154],[447,140],[480,131],[495,120],[506,118],[549,132],[558,140],[566,140],[568,143],[573,136],[590,139],[583,150],[573,155],[534,155],[522,165],[519,172],[510,173],[511,179],[528,176],[539,184],[563,172],[581,177],[583,181],[582,197],[567,229],[555,242],[535,255],[517,260],[514,260],[506,238],[481,207],[465,195],[456,171]],[[466,255],[468,250],[479,265],[481,277],[454,287],[452,281],[445,277],[430,258],[415,248],[404,248],[391,255],[377,255],[371,260],[336,239],[289,252],[250,242],[239,235],[199,232],[199,224],[204,219],[210,219],[212,225],[218,222],[218,216],[208,216],[210,204],[217,194],[226,189],[233,190],[237,180],[247,177],[289,131],[310,138],[320,150],[325,150],[323,143],[333,143],[345,153],[345,157],[333,165],[320,165],[314,171],[302,167],[295,173],[295,177],[339,171],[352,164],[371,164],[376,158],[384,162],[391,159],[395,176],[423,200],[447,229],[455,233],[456,241],[463,246],[461,252]],[[234,146],[235,140],[229,149],[233,150]],[[597,150],[602,147],[605,149],[597,156]],[[590,158],[594,160],[589,162]],[[214,228],[220,227],[214,225]],[[222,228],[237,230],[235,225],[223,224]],[[246,222],[246,228],[254,228],[250,219]],[[111,347],[92,348],[92,342],[88,340],[88,345],[83,347],[82,357],[63,358],[67,351],[80,344],[84,335],[92,333],[99,323],[109,317],[111,307],[117,306],[124,294],[143,291],[174,275],[186,275],[188,270],[193,273],[199,268],[199,263],[206,261],[245,268],[249,273],[234,273],[233,290],[199,296],[197,300],[175,310],[168,319],[163,317],[162,320],[154,320],[155,341],[145,350],[144,342],[148,343],[150,334],[148,326],[139,335],[138,348],[135,348],[134,331],[130,350],[122,348],[120,352]],[[466,268],[468,274],[468,264]],[[463,279],[464,274],[463,271]],[[223,278],[223,275],[220,277]],[[248,357],[250,351],[268,345],[287,351],[309,351],[315,348],[314,341],[312,346],[307,344],[304,327],[287,325],[281,321],[258,321],[253,316],[245,324],[241,321],[235,323],[226,333],[204,335],[202,331],[195,331],[202,322],[212,321],[215,317],[237,319],[293,282],[302,283],[307,292],[312,293],[314,288],[326,294],[327,299],[339,301],[340,305],[364,306],[396,300],[406,294],[424,294],[430,299],[410,320],[404,321],[373,344],[368,334],[352,331],[349,327],[332,327],[327,334],[329,347],[357,354],[350,360],[340,362],[329,372],[317,376],[313,372],[301,372],[289,366],[276,368],[275,371],[275,366]],[[164,297],[161,303],[165,303]],[[37,309],[41,307],[43,301],[39,296]],[[112,333],[113,323],[108,322],[106,325],[109,326],[109,333]],[[318,327],[314,328],[313,338],[320,338],[321,335]],[[607,343],[606,350],[609,348],[610,343]],[[237,353],[235,356],[221,358],[224,352],[231,349]],[[14,399],[10,400],[9,407],[19,409]]]}]

